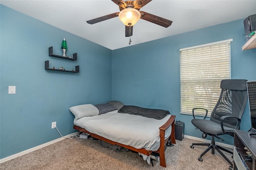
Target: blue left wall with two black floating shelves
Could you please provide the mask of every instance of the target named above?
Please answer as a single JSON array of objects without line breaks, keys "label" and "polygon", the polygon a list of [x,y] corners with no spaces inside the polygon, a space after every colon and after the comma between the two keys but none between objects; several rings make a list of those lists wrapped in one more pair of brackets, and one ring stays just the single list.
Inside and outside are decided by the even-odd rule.
[{"label": "blue left wall with two black floating shelves", "polygon": [[[69,107],[111,100],[112,51],[96,43],[50,26],[0,5],[0,158],[22,152],[75,132]],[[67,55],[77,53],[76,61],[48,56],[62,54],[66,38]],[[80,65],[80,73],[49,71]],[[16,86],[16,94],[8,94]]]}]

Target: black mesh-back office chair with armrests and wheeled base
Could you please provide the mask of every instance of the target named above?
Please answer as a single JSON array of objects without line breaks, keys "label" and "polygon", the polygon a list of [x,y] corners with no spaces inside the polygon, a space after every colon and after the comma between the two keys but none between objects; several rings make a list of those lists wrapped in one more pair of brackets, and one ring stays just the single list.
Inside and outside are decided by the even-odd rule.
[{"label": "black mesh-back office chair with armrests and wheeled base", "polygon": [[194,119],[191,122],[203,132],[202,138],[206,138],[207,134],[212,136],[211,143],[193,143],[190,146],[190,148],[194,148],[194,145],[208,146],[198,158],[199,161],[202,162],[202,156],[210,149],[212,149],[212,154],[214,154],[216,149],[230,164],[230,168],[232,168],[232,162],[220,150],[230,154],[233,154],[233,152],[216,145],[214,137],[224,141],[218,135],[229,134],[234,137],[234,129],[240,128],[241,118],[247,103],[246,81],[243,79],[226,79],[221,81],[220,98],[212,110],[210,120],[205,119],[208,110],[204,109],[206,111],[204,119],[195,119],[194,117],[194,111],[203,108],[194,108],[192,110]]}]

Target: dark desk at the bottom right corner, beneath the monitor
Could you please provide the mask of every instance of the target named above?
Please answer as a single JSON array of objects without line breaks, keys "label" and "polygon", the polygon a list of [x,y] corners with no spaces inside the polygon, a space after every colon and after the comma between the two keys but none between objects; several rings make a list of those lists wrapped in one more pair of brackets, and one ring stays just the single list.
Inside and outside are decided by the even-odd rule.
[{"label": "dark desk at the bottom right corner, beneath the monitor", "polygon": [[[246,147],[253,156],[252,161],[244,161],[248,158],[248,154],[244,149]],[[234,170],[256,170],[255,169],[255,159],[256,159],[256,135],[249,136],[249,132],[243,130],[234,131]]]}]

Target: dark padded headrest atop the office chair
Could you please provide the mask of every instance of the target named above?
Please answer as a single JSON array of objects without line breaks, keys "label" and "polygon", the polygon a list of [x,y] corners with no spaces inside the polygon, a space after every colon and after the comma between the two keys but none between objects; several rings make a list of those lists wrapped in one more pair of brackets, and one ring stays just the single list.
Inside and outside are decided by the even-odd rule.
[{"label": "dark padded headrest atop the office chair", "polygon": [[245,79],[225,79],[220,82],[220,88],[246,91],[247,90],[246,82],[247,80]]}]

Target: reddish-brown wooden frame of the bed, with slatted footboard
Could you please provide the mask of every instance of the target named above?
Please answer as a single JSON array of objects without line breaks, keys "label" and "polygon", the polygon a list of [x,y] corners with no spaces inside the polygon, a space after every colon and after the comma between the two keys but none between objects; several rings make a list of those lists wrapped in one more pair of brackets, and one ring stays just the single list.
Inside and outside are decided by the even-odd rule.
[{"label": "reddish-brown wooden frame of the bed, with slatted footboard", "polygon": [[[174,129],[174,128],[175,128],[175,125],[174,125],[174,123],[175,123],[175,117],[176,117],[176,116],[171,115],[171,117],[168,119],[168,121],[167,121],[164,125],[162,125],[162,126],[159,128],[159,130],[160,130],[160,132],[159,132],[159,134],[160,134],[160,147],[158,148],[157,151],[154,151],[154,152],[160,154],[160,166],[163,166],[163,167],[166,167],[166,160],[165,160],[165,154],[164,154],[164,150],[165,150],[165,149],[164,149],[164,146],[166,145],[166,143],[167,143],[167,141],[168,141],[169,138],[170,138],[170,140],[172,141],[172,144],[176,144],[176,141],[175,141],[175,129]],[[165,130],[166,130],[168,127],[170,127],[170,126],[172,126],[172,132],[171,132],[170,136],[169,136],[166,140],[164,140]],[[114,141],[112,141],[112,140],[109,140],[109,139],[104,138],[104,137],[102,137],[102,136],[99,136],[99,135],[97,135],[97,134],[88,132],[88,131],[85,130],[84,128],[78,127],[78,126],[76,126],[76,125],[74,125],[73,128],[76,129],[76,130],[78,130],[78,131],[88,133],[88,134],[90,134],[92,137],[97,138],[97,139],[99,139],[99,140],[103,140],[103,141],[108,142],[108,143],[110,143],[110,144],[115,144],[115,145],[123,146],[123,147],[125,147],[125,148],[127,148],[127,149],[133,150],[133,151],[135,151],[135,152],[140,152],[140,153],[145,154],[145,155],[147,155],[147,156],[149,156],[149,155],[152,153],[151,150],[146,150],[146,149],[144,149],[144,148],[142,148],[142,149],[137,149],[137,148],[134,148],[134,147],[132,147],[132,146],[128,146],[128,145],[124,145],[124,144],[121,144],[121,143],[118,143],[118,142],[114,142]]]}]

